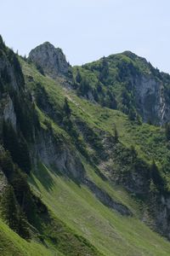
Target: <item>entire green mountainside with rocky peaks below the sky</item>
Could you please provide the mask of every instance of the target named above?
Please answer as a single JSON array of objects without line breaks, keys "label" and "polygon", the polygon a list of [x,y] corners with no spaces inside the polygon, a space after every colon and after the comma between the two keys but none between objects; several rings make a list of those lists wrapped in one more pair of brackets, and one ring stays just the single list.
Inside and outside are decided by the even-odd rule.
[{"label": "entire green mountainside with rocky peaks below the sky", "polygon": [[130,52],[71,67],[0,38],[1,255],[169,255],[168,80]]}]

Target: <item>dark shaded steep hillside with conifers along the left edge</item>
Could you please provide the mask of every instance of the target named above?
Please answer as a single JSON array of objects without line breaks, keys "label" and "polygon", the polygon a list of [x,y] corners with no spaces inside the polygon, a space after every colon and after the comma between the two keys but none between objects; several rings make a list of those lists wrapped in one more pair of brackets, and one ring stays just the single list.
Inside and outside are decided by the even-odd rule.
[{"label": "dark shaded steep hillside with conifers along the left edge", "polygon": [[[0,217],[11,230],[26,241],[35,240],[37,247],[41,243],[44,250],[48,247],[51,255],[56,254],[55,251],[57,252],[58,248],[61,254],[66,255],[68,253],[99,255],[97,249],[86,239],[78,236],[59,218],[56,218],[42,203],[40,197],[34,195],[27,183],[27,175],[30,175],[31,167],[37,165],[38,157],[45,160],[44,151],[48,149],[45,140],[51,137],[52,146],[57,147],[60,142],[62,147],[61,142],[63,145],[64,142],[66,143],[66,136],[57,132],[55,136],[54,133],[46,131],[44,126],[41,127],[41,119],[38,117],[35,103],[31,100],[31,92],[26,88],[17,56],[3,44],[2,38],[0,43],[0,135],[3,145],[0,148]],[[57,140],[59,140],[58,143]],[[67,150],[57,150],[56,154],[58,153],[59,156],[63,154],[63,157],[69,160],[70,150],[67,147]],[[78,168],[79,160],[76,157],[75,160]],[[75,160],[72,160],[73,164]],[[81,165],[80,161],[79,165]],[[65,171],[67,171],[66,168]],[[53,230],[48,233],[50,229]],[[13,236],[9,230],[5,234],[5,236]],[[1,243],[3,246],[3,240]],[[7,252],[10,250],[12,252],[12,248],[9,247]],[[32,255],[37,255],[36,249]]]}]

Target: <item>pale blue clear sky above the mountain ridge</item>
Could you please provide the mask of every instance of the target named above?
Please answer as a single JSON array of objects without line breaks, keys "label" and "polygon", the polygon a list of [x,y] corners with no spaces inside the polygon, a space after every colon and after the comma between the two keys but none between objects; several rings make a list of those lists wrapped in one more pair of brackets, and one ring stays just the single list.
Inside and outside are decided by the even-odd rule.
[{"label": "pale blue clear sky above the mountain ridge", "polygon": [[45,41],[71,65],[131,50],[170,73],[169,0],[0,0],[0,34],[28,55]]}]

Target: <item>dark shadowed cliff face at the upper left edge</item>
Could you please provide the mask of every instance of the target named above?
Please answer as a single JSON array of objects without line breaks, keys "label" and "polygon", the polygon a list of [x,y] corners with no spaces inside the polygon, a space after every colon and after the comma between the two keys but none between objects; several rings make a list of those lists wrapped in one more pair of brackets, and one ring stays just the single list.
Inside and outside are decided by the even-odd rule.
[{"label": "dark shadowed cliff face at the upper left edge", "polygon": [[[14,131],[17,130],[17,118],[14,108],[16,99],[26,96],[24,78],[20,70],[20,63],[11,49],[0,43],[0,123],[9,122]],[[2,132],[2,130],[1,130]]]}]

